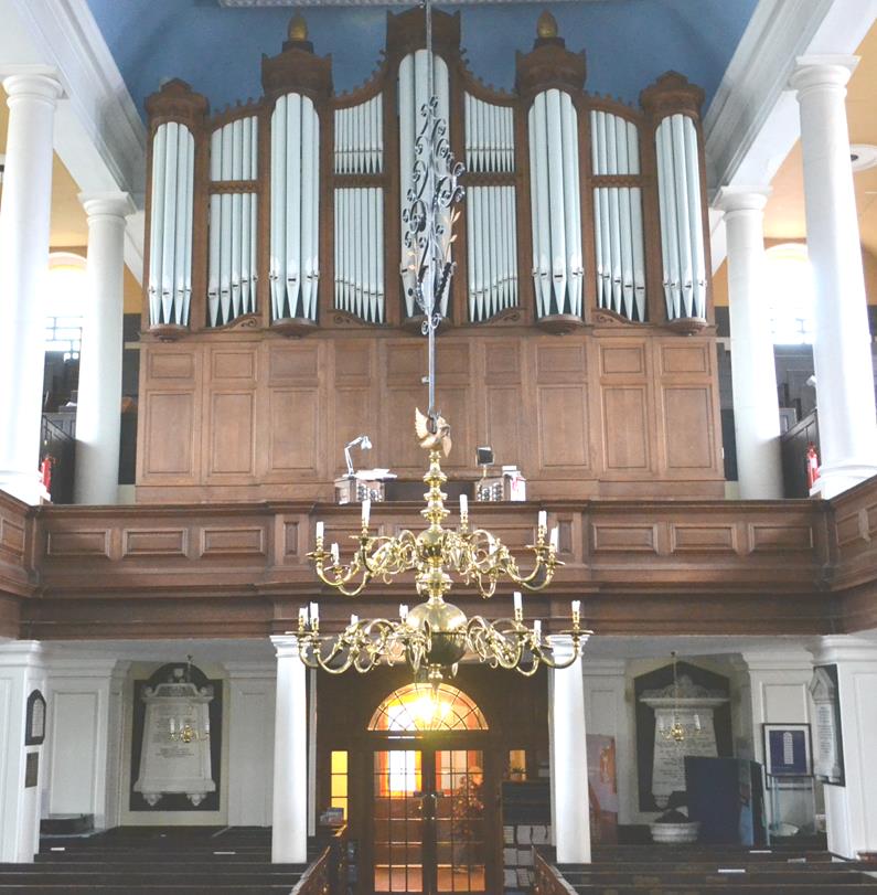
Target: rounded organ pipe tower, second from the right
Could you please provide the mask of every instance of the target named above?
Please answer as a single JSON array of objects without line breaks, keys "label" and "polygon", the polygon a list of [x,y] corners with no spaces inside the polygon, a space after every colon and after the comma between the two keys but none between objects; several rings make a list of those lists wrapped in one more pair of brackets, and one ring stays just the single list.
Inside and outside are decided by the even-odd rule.
[{"label": "rounded organ pipe tower, second from the right", "polygon": [[580,317],[578,114],[569,95],[557,88],[536,94],[528,129],[536,313]]}]

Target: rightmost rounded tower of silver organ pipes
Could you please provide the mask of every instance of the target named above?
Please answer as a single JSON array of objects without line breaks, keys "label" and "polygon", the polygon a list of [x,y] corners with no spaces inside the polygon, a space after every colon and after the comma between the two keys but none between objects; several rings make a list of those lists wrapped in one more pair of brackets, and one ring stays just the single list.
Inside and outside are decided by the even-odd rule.
[{"label": "rightmost rounded tower of silver organ pipes", "polygon": [[655,131],[661,259],[667,319],[706,317],[706,263],[697,130],[682,114]]}]

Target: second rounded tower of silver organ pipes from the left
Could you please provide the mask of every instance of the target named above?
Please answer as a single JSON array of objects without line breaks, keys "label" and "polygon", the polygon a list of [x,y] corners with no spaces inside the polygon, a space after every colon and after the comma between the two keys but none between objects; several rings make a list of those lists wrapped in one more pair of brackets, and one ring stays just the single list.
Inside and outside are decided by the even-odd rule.
[{"label": "second rounded tower of silver organ pipes from the left", "polygon": [[320,120],[313,100],[280,96],[271,114],[271,319],[317,320]]}]

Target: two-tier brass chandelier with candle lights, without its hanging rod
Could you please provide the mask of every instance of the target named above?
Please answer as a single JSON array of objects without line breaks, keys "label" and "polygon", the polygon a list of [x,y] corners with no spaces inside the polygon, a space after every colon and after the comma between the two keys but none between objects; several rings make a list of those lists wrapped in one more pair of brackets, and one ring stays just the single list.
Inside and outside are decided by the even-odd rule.
[{"label": "two-tier brass chandelier with candle lights, without its hanging rod", "polygon": [[[447,425],[447,424],[446,424]],[[376,618],[360,620],[352,615],[350,624],[339,635],[320,632],[319,606],[299,612],[298,642],[301,660],[311,668],[341,674],[353,668],[367,672],[378,665],[407,663],[415,675],[423,675],[434,686],[464,658],[491,668],[514,669],[531,675],[539,665],[568,668],[578,658],[580,648],[590,636],[581,627],[579,600],[573,600],[573,624],[560,633],[570,638],[573,653],[564,660],[554,658],[550,640],[536,619],[528,627],[524,621],[521,592],[513,598],[513,615],[489,621],[483,616],[467,615],[445,596],[451,589],[451,573],[463,585],[474,587],[483,598],[492,597],[501,578],[528,590],[542,590],[554,577],[557,566],[557,529],[547,531],[547,513],[537,516],[533,568],[522,572],[509,548],[489,531],[472,529],[468,501],[460,501],[460,522],[456,530],[446,529],[443,520],[450,511],[445,507],[441,486],[447,477],[441,470],[440,451],[429,451],[429,470],[424,481],[429,486],[426,507],[420,514],[429,523],[419,534],[405,530],[393,537],[374,536],[368,524],[371,505],[363,501],[362,529],[352,537],[359,545],[350,563],[342,564],[338,544],[329,550],[324,544],[324,528],[317,523],[315,548],[308,554],[317,575],[324,584],[345,596],[355,597],[368,582],[389,583],[396,575],[415,573],[415,589],[424,600],[413,608],[402,604],[398,620]]]}]

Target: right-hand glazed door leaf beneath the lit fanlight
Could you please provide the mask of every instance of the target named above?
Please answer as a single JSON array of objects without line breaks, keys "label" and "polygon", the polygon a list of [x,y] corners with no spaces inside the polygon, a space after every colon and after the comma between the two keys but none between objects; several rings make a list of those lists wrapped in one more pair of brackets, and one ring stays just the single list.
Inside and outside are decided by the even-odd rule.
[{"label": "right-hand glazed door leaf beneath the lit fanlight", "polygon": [[484,756],[480,749],[436,753],[438,891],[485,892]]}]

